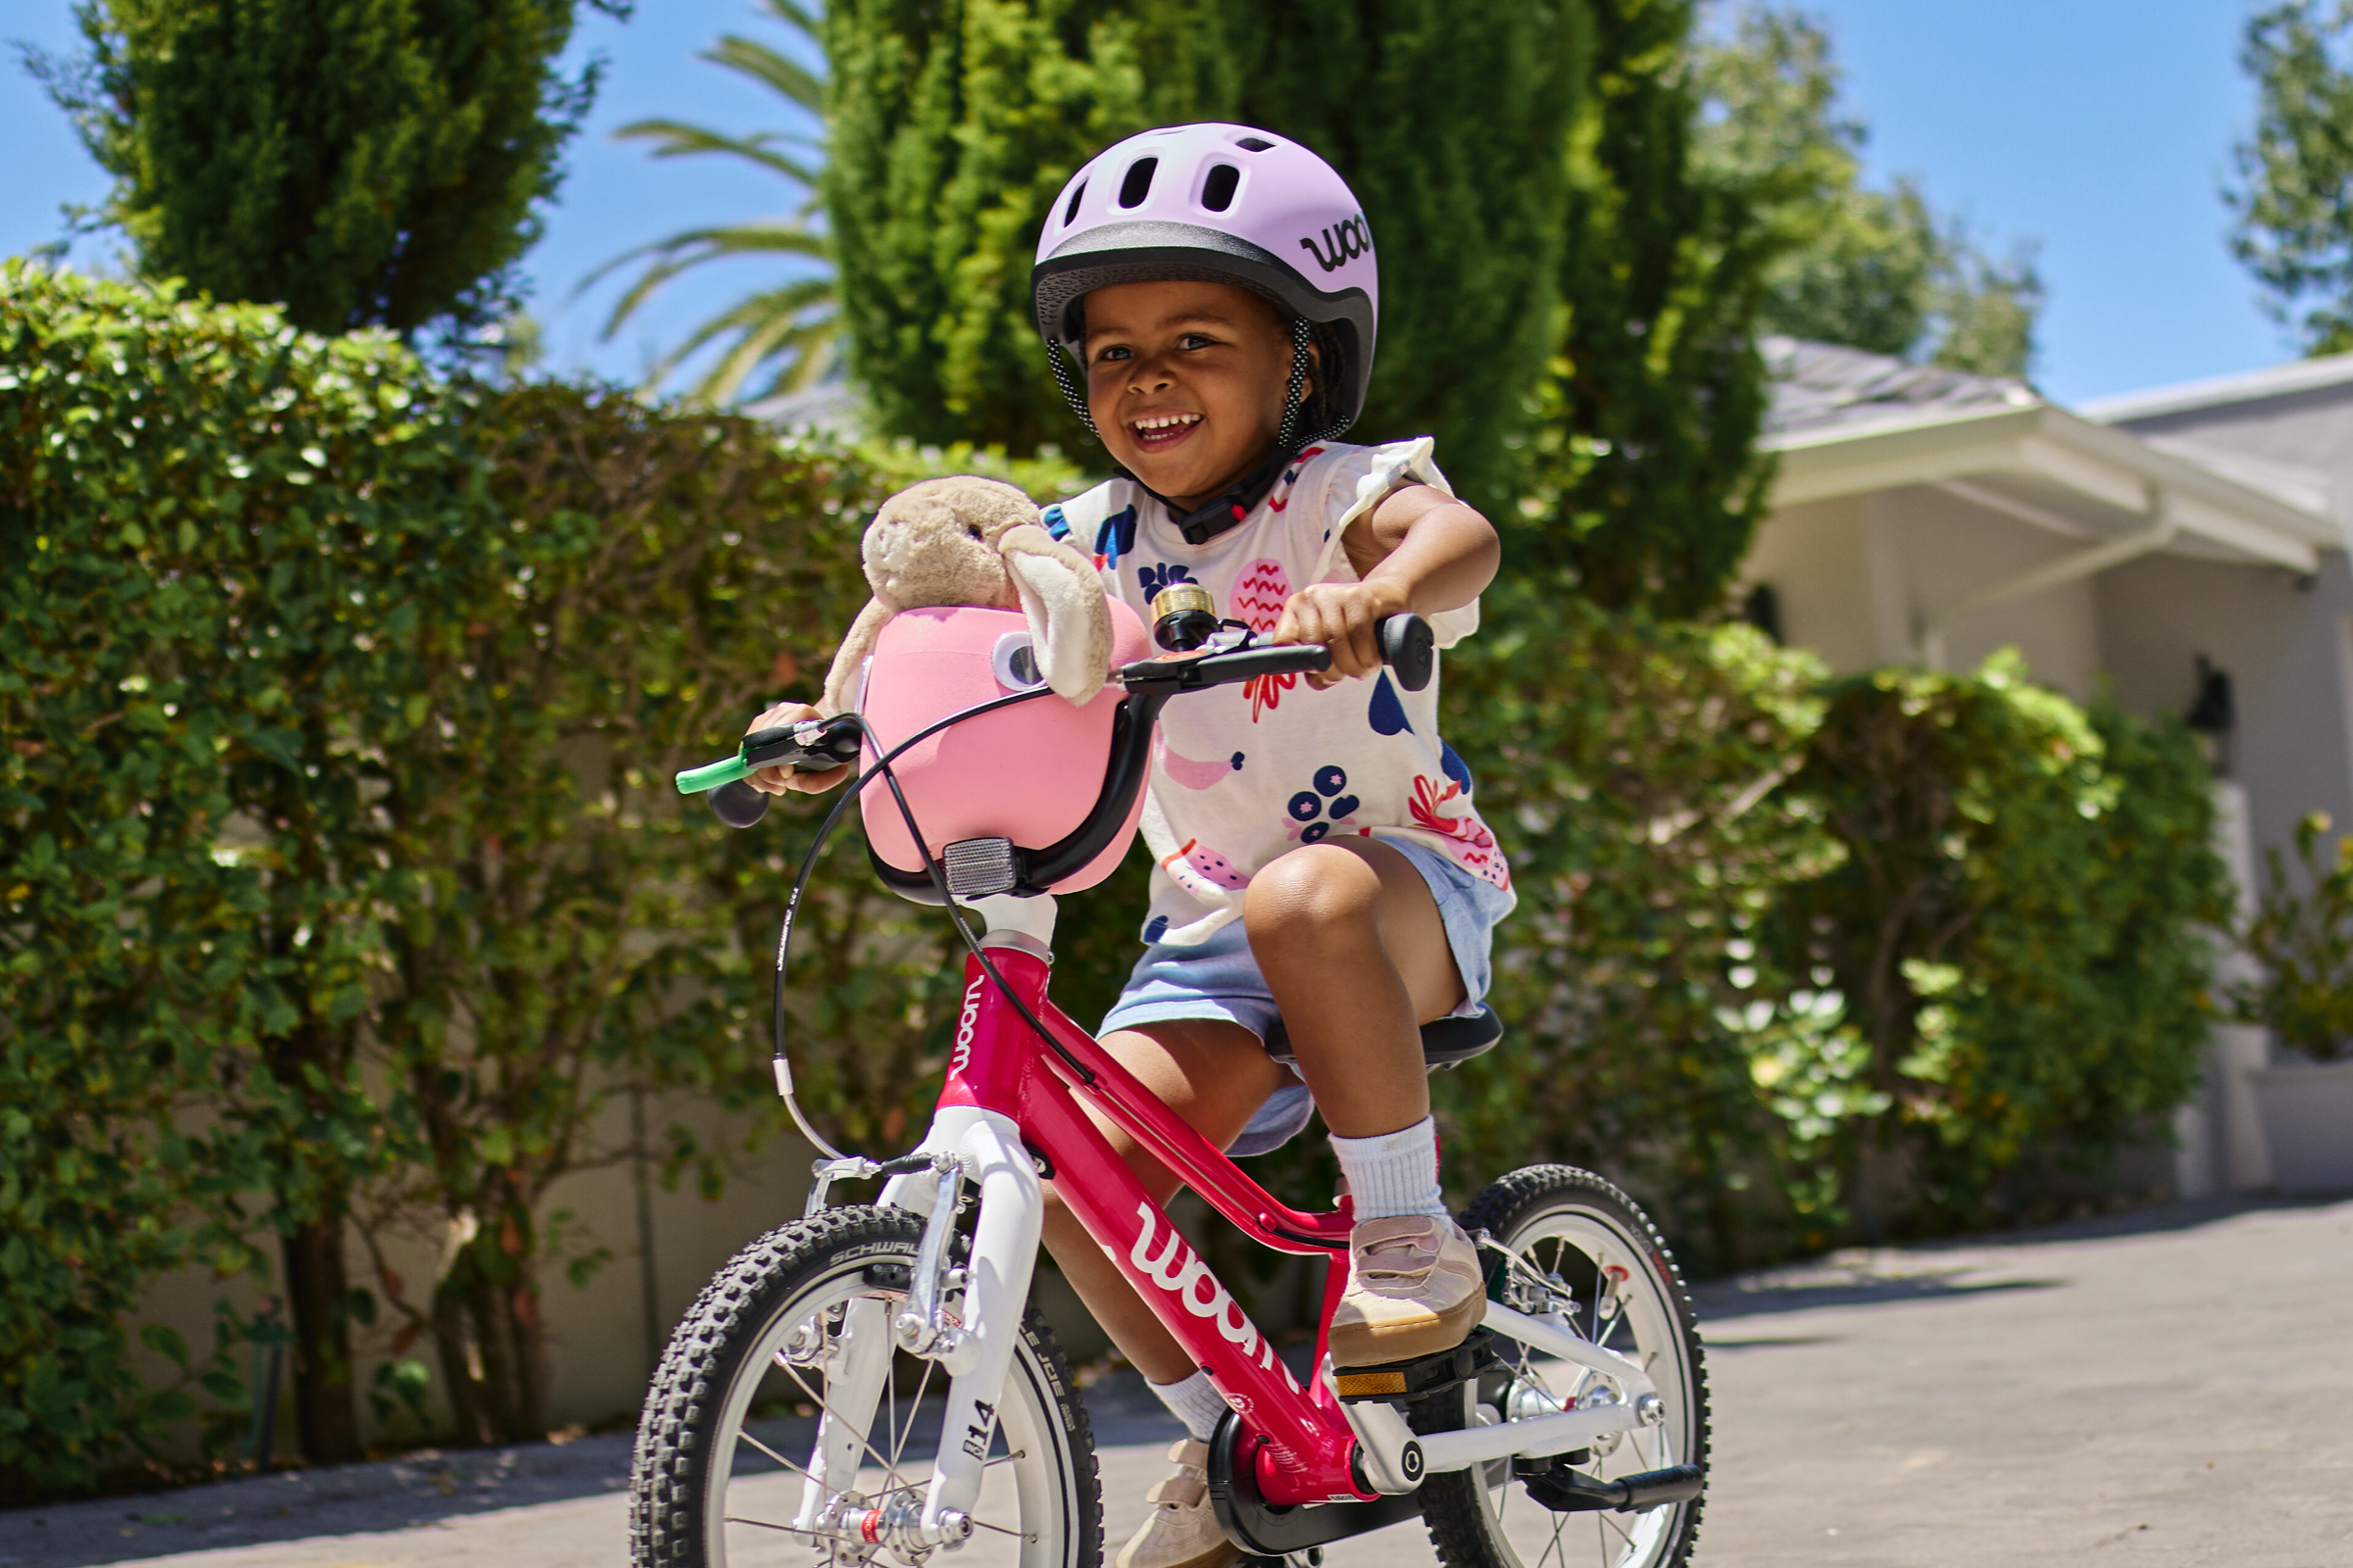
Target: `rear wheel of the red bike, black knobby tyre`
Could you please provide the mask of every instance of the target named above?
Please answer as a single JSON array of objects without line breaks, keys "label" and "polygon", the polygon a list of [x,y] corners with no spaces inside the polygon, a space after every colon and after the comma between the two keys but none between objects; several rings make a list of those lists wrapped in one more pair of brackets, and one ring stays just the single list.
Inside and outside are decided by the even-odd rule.
[{"label": "rear wheel of the red bike, black knobby tyre", "polygon": [[[1708,1378],[1699,1324],[1675,1260],[1633,1199],[1572,1166],[1527,1166],[1489,1185],[1464,1211],[1508,1260],[1480,1248],[1487,1295],[1520,1312],[1560,1314],[1591,1342],[1642,1366],[1664,1420],[1598,1441],[1560,1460],[1494,1460],[1431,1476],[1421,1516],[1447,1568],[1682,1568],[1699,1537],[1701,1497],[1647,1514],[1565,1512],[1529,1493],[1529,1472],[1551,1465],[1614,1481],[1671,1465],[1708,1462]],[[1409,1408],[1417,1432],[1529,1420],[1579,1401],[1619,1399],[1600,1373],[1501,1340],[1504,1366]]]}]

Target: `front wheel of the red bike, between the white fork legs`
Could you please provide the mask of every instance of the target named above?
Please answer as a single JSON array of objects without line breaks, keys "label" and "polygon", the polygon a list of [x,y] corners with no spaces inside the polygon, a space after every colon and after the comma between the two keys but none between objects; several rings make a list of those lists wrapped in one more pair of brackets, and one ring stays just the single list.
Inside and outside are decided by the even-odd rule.
[{"label": "front wheel of the red bike, between the white fork legs", "polygon": [[[631,1465],[635,1568],[904,1563],[889,1544],[793,1535],[826,1368],[854,1321],[882,1331],[906,1300],[922,1220],[899,1208],[831,1208],[760,1237],[720,1269],[671,1335],[638,1418]],[[880,1312],[864,1307],[875,1305]],[[953,1305],[953,1298],[951,1298]],[[946,1375],[896,1361],[861,1429],[866,1507],[922,1497]],[[925,1399],[925,1396],[932,1399]],[[1104,1500],[1087,1408],[1035,1307],[998,1403],[998,1429],[955,1563],[1099,1568]]]}]

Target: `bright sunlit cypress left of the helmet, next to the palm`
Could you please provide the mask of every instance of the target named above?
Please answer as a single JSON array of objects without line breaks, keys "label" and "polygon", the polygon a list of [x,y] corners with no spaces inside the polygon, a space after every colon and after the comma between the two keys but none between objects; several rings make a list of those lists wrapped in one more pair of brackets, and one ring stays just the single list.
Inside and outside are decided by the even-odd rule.
[{"label": "bright sunlit cypress left of the helmet, next to the palm", "polygon": [[1120,136],[1233,96],[1219,0],[835,0],[826,216],[849,369],[920,442],[1075,442],[1031,324],[1047,202]]}]

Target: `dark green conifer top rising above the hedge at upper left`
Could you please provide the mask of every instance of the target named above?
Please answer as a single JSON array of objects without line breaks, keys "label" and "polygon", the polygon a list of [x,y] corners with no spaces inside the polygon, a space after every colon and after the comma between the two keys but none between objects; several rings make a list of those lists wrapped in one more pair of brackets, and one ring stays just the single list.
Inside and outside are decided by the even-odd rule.
[{"label": "dark green conifer top rising above the hedge at upper left", "polygon": [[[626,14],[628,0],[586,0]],[[78,0],[52,94],[115,179],[148,277],[282,303],[308,331],[513,306],[598,68],[574,0]]]}]

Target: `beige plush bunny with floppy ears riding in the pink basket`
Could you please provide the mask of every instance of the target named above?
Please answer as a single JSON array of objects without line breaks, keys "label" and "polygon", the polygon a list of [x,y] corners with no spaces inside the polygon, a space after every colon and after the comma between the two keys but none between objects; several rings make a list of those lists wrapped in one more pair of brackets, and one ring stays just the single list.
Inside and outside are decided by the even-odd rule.
[{"label": "beige plush bunny with floppy ears riding in the pink basket", "polygon": [[882,503],[861,545],[875,597],[849,623],[819,710],[847,712],[859,668],[882,623],[901,609],[974,604],[1019,609],[1045,684],[1087,703],[1111,672],[1111,609],[1094,562],[1038,522],[1012,484],[951,475],[922,480]]}]

